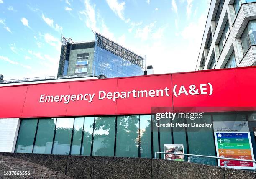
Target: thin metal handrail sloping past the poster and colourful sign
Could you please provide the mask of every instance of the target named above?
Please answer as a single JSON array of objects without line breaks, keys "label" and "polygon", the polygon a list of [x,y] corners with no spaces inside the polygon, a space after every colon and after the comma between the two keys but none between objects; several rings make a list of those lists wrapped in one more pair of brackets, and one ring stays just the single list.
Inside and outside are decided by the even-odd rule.
[{"label": "thin metal handrail sloping past the poster and colourful sign", "polygon": [[[227,160],[227,161],[224,161],[224,167],[225,167],[225,168],[228,168],[228,161],[230,161],[230,160],[248,161],[248,162],[256,163],[255,160],[234,159],[234,158],[225,158],[225,157],[216,157],[216,156],[204,156],[204,155],[187,154],[187,153],[166,153],[166,152],[155,152],[155,159],[157,159],[157,153],[160,153],[160,154],[182,155],[182,156],[208,157],[208,158],[213,158],[213,159],[223,159],[223,160]],[[188,157],[188,162],[191,162],[191,161],[190,161],[190,157]]]}]

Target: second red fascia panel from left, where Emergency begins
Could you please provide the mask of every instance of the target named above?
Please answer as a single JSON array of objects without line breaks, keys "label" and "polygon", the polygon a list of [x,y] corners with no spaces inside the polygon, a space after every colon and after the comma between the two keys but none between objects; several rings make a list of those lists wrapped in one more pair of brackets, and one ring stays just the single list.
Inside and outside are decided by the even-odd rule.
[{"label": "second red fascia panel from left, where Emergency begins", "polygon": [[39,102],[39,100],[40,95],[56,96],[69,94],[69,84],[29,85],[22,117],[65,116],[67,104],[64,104],[64,102]]}]

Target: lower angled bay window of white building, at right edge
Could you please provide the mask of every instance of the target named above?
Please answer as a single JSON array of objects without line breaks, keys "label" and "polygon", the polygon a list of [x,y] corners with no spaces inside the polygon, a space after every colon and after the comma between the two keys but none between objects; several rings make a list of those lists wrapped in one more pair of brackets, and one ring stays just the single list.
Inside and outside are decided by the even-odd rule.
[{"label": "lower angled bay window of white building, at right edge", "polygon": [[256,20],[249,21],[248,25],[244,29],[241,42],[243,46],[243,53],[246,54],[250,46],[256,45]]}]

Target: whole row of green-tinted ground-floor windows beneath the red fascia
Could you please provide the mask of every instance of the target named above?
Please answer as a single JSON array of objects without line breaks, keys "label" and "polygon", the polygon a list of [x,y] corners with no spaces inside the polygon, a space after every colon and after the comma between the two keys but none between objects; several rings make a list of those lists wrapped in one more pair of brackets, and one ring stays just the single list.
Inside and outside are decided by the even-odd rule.
[{"label": "whole row of green-tinted ground-floor windows beneath the red fascia", "polygon": [[[250,125],[251,114],[205,113],[202,119],[178,120],[179,123],[187,124],[202,123],[202,120],[212,124],[212,121],[249,119]],[[150,115],[23,119],[15,152],[153,158],[155,151],[164,151],[164,144],[182,144],[184,153],[216,156],[212,128],[161,128],[156,127],[157,122],[159,121]],[[161,124],[169,122],[170,119],[160,120]],[[255,150],[253,140],[254,138],[252,145]],[[164,159],[164,155],[159,154],[157,158]],[[187,160],[185,157],[185,161]],[[216,159],[192,156],[190,160],[199,164],[217,165]]]}]

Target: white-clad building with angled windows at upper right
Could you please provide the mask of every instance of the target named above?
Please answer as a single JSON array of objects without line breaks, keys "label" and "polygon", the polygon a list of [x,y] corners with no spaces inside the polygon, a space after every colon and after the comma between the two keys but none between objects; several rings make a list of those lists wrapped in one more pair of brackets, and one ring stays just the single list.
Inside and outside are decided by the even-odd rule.
[{"label": "white-clad building with angled windows at upper right", "polygon": [[212,0],[196,70],[256,65],[256,0]]}]

